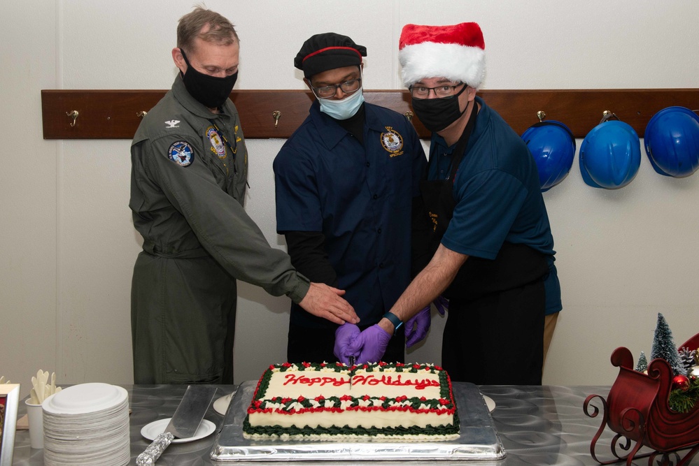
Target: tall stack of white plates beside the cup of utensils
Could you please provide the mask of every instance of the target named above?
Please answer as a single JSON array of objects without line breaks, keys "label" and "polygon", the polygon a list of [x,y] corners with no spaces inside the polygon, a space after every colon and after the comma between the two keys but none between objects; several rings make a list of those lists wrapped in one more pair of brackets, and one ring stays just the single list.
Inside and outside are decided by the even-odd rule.
[{"label": "tall stack of white plates beside the cup of utensils", "polygon": [[109,384],[80,384],[46,398],[45,465],[128,465],[129,395]]}]

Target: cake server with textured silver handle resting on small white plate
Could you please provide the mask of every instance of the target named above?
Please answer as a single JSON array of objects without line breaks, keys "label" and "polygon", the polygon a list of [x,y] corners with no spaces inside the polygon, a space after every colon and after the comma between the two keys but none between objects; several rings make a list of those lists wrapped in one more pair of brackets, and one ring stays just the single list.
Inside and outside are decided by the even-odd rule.
[{"label": "cake server with textured silver handle resting on small white plate", "polygon": [[202,423],[206,411],[209,410],[209,405],[211,405],[214,395],[216,395],[216,387],[206,385],[188,386],[165,431],[155,437],[153,443],[148,445],[146,451],[143,451],[136,458],[136,465],[153,465],[173,439],[193,437],[197,429],[199,429],[199,424]]}]

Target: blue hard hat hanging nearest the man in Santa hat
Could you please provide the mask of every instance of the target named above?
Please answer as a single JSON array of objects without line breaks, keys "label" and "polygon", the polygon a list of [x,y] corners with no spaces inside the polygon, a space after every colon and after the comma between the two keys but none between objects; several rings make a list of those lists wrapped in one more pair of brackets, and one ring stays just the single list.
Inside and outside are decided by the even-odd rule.
[{"label": "blue hard hat hanging nearest the man in Santa hat", "polygon": [[530,126],[522,134],[539,170],[542,192],[563,181],[573,166],[575,138],[565,124],[549,120]]}]

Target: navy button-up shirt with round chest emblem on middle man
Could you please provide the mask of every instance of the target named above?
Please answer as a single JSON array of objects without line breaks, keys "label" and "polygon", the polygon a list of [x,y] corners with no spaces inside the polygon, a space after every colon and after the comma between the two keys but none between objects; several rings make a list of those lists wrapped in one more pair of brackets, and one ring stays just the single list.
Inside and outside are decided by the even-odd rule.
[{"label": "navy button-up shirt with round chest emblem on middle man", "polygon": [[[425,153],[404,115],[365,103],[363,145],[311,105],[274,159],[277,231],[325,235],[339,288],[371,325],[410,282],[411,202]],[[299,307],[291,322],[331,326]]]}]

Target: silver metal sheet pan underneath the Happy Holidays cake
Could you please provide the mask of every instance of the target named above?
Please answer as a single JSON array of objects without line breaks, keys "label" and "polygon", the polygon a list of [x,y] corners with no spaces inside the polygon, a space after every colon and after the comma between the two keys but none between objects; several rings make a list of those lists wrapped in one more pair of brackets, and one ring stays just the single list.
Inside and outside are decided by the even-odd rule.
[{"label": "silver metal sheet pan underneath the Happy Holidays cake", "polygon": [[260,442],[243,438],[246,409],[253,399],[256,381],[245,381],[228,406],[216,435],[211,459],[216,461],[404,461],[499,460],[505,451],[495,431],[488,407],[474,384],[455,382],[454,398],[460,419],[460,437],[444,442]]}]

